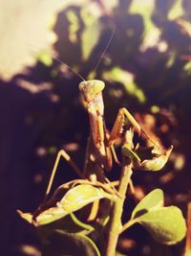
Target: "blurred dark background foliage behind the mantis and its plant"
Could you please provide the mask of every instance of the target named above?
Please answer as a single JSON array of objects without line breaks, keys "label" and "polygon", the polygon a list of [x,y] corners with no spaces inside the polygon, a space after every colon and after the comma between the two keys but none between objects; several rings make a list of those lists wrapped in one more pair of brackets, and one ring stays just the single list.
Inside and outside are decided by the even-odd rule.
[{"label": "blurred dark background foliage behind the mantis and its plant", "polygon": [[[40,255],[34,231],[16,215],[43,198],[56,151],[82,168],[89,133],[77,77],[105,81],[105,119],[112,128],[127,107],[164,150],[158,174],[134,173],[136,200],[156,187],[186,216],[191,200],[191,2],[189,0],[1,1],[1,255]],[[115,34],[95,70],[112,32]],[[57,59],[64,63],[60,63]],[[61,161],[54,188],[76,177]],[[116,171],[115,171],[116,170]],[[117,178],[117,166],[111,179]],[[157,244],[141,227],[119,241],[125,255],[181,255],[183,242]]]}]

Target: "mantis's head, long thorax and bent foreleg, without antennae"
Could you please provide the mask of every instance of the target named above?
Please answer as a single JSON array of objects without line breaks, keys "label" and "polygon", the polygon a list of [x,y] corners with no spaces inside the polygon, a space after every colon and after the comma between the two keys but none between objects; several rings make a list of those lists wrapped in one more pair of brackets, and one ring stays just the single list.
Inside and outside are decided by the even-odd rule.
[{"label": "mantis's head, long thorax and bent foreleg, without antennae", "polygon": [[[117,113],[117,118],[114,127],[109,133],[104,120],[104,104],[102,90],[105,83],[99,80],[81,81],[79,90],[83,105],[85,106],[90,119],[91,135],[89,143],[94,145],[94,151],[90,150],[87,153],[86,164],[84,171],[88,171],[90,161],[98,162],[99,167],[103,170],[112,169],[112,154],[115,161],[118,163],[114,143],[124,131],[128,120],[140,134],[141,128],[131,113],[124,107],[120,108]],[[92,142],[90,142],[92,140]],[[90,148],[90,147],[88,147]],[[95,153],[94,153],[95,152]]]}]

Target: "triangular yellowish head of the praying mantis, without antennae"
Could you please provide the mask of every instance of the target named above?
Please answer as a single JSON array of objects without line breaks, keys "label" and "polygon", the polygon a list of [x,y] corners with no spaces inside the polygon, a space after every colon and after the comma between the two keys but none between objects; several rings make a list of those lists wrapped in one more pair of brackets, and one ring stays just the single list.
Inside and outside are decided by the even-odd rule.
[{"label": "triangular yellowish head of the praying mantis, without antennae", "polygon": [[98,95],[105,87],[105,83],[100,80],[81,81],[79,83],[79,90],[81,92],[84,102],[92,102],[96,95]]}]

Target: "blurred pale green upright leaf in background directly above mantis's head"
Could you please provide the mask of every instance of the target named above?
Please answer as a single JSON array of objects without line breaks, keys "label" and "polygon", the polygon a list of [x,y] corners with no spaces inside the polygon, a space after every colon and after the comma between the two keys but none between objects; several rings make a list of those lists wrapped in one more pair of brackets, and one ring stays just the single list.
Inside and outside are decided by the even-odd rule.
[{"label": "blurred pale green upright leaf in background directly above mantis's head", "polygon": [[81,35],[82,58],[86,61],[93,52],[101,33],[99,20],[85,27]]}]

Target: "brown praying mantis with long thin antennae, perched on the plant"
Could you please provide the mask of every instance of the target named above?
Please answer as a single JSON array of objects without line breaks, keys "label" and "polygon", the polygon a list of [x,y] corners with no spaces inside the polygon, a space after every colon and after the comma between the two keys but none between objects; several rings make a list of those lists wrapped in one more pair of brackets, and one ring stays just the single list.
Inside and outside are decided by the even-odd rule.
[{"label": "brown praying mantis with long thin antennae, perched on the plant", "polygon": [[[96,63],[96,68],[103,58],[112,38],[114,35],[115,29],[101,55],[98,62]],[[59,62],[62,62],[59,58],[56,58]],[[63,62],[62,62],[63,63]],[[68,66],[66,64],[66,66]],[[111,170],[113,166],[113,157],[117,164],[120,164],[117,159],[117,154],[114,148],[115,141],[117,138],[124,135],[125,129],[131,125],[133,131],[135,130],[140,135],[140,132],[143,131],[136,119],[132,116],[132,114],[125,108],[122,107],[118,110],[117,118],[114,123],[114,127],[112,131],[109,132],[105,125],[104,119],[104,103],[103,103],[103,96],[102,91],[105,87],[104,81],[100,80],[88,80],[85,81],[81,75],[76,73],[70,66],[68,66],[75,75],[77,75],[82,81],[79,83],[79,92],[80,92],[80,99],[82,104],[84,105],[86,111],[88,112],[89,119],[90,119],[90,136],[88,139],[85,163],[84,163],[84,170],[83,172],[74,164],[74,161],[71,159],[70,155],[64,151],[60,150],[57,153],[52,175],[46,190],[46,195],[44,198],[44,202],[47,200],[52,184],[53,184],[53,177],[56,173],[57,166],[59,164],[59,160],[61,157],[64,157],[66,161],[74,168],[75,173],[83,179],[87,179],[90,182],[102,182],[102,184],[106,184],[105,189],[112,190],[115,189],[111,182],[105,177],[104,171]],[[95,68],[95,71],[96,71]],[[146,133],[143,131],[146,135]],[[86,180],[86,182],[87,182]],[[108,188],[108,184],[109,188]],[[104,185],[103,185],[104,186]]]}]

